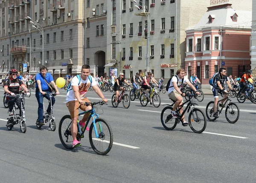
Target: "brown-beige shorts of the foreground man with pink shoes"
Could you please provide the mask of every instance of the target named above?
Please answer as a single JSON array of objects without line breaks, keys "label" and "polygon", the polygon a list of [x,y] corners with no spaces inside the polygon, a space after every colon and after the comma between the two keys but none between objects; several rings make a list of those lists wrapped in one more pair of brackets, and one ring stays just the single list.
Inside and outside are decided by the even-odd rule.
[{"label": "brown-beige shorts of the foreground man with pink shoes", "polygon": [[[87,97],[85,97],[82,100],[84,102],[90,102],[87,99]],[[79,108],[83,111],[86,111],[86,108],[88,107],[86,105],[79,104],[78,100],[69,101],[69,102],[67,102],[66,105],[67,105],[68,110],[70,111],[71,118],[74,118],[79,115]]]}]

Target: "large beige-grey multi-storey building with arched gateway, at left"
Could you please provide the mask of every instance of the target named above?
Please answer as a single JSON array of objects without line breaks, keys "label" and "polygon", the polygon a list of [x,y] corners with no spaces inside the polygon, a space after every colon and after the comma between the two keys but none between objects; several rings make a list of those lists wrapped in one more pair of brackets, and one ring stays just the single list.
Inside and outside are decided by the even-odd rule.
[{"label": "large beige-grey multi-storey building with arched gateway, at left", "polygon": [[23,71],[26,63],[30,73],[38,73],[46,65],[58,77],[75,75],[88,63],[98,72],[105,65],[105,6],[105,0],[1,1],[0,71]]}]

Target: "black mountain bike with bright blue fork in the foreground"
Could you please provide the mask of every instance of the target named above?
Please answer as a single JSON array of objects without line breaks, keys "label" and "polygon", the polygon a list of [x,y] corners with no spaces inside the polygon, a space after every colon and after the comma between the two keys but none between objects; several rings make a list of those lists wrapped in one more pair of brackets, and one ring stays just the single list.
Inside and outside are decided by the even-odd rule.
[{"label": "black mountain bike with bright blue fork in the foreground", "polygon": [[[103,105],[105,104],[104,101],[99,101],[99,102],[93,102],[93,103],[84,103],[85,105],[91,104],[92,109],[84,111],[79,114],[83,115],[85,113],[90,113],[88,116],[87,122],[84,126],[84,128],[81,128],[79,125],[79,119],[77,120],[77,128],[78,132],[76,135],[76,138],[78,141],[81,141],[81,138],[84,138],[84,132],[89,124],[90,118],[93,118],[92,124],[90,125],[90,130],[89,130],[89,141],[90,145],[93,149],[94,152],[96,152],[99,155],[106,155],[108,152],[110,152],[112,145],[113,145],[113,134],[112,134],[112,129],[110,125],[108,124],[107,121],[105,121],[102,118],[99,118],[99,114],[96,114],[95,109],[96,105]],[[61,144],[67,148],[67,149],[74,149],[75,147],[72,146],[73,143],[73,137],[71,135],[71,116],[70,115],[64,115],[61,118],[59,128],[58,128],[58,133],[59,133],[59,138],[61,140]],[[95,132],[95,136],[93,136],[93,130]]]}]

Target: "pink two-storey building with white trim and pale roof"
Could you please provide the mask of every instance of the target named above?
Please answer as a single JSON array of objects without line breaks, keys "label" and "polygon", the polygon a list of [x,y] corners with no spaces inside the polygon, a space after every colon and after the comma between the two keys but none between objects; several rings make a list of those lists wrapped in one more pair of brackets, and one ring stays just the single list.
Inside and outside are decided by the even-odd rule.
[{"label": "pink two-storey building with white trim and pale roof", "polygon": [[186,30],[185,70],[197,73],[202,84],[226,68],[227,74],[240,76],[250,69],[251,11],[239,11],[230,3],[208,7],[192,28]]}]

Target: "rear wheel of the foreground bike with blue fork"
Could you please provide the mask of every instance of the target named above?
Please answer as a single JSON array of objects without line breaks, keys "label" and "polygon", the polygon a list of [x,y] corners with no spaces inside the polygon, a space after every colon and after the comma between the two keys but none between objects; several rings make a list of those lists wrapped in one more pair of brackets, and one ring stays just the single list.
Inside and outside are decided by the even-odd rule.
[{"label": "rear wheel of the foreground bike with blue fork", "polygon": [[74,149],[74,147],[72,146],[73,137],[71,135],[70,125],[71,125],[71,116],[64,115],[61,118],[58,133],[59,133],[59,138],[61,140],[61,144],[67,149]]}]

